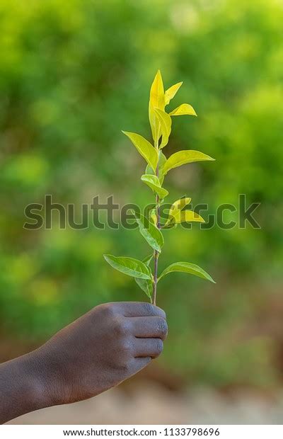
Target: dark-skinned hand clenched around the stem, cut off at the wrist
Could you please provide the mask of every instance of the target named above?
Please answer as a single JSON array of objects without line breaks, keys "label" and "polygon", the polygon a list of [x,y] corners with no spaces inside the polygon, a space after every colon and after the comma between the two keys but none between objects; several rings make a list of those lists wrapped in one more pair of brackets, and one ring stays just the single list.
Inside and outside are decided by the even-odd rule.
[{"label": "dark-skinned hand clenched around the stem, cut off at the wrist", "polygon": [[69,404],[114,387],[163,350],[166,314],[145,302],[93,308],[33,353],[47,405]]}]

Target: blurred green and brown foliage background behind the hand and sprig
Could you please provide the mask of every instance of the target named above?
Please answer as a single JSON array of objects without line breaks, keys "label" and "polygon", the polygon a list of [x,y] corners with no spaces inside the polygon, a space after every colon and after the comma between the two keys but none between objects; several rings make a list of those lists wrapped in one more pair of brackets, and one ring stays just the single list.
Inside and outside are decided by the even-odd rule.
[{"label": "blurred green and brown foliage background behind the hand and sprig", "polygon": [[[171,107],[188,102],[198,114],[174,118],[165,154],[198,149],[216,158],[171,171],[169,201],[191,196],[208,203],[207,215],[221,203],[238,207],[240,193],[261,203],[261,229],[166,232],[161,268],[198,263],[217,283],[180,273],[160,283],[170,329],[161,358],[98,399],[18,423],[56,423],[58,413],[69,423],[279,423],[282,23],[282,0],[1,0],[1,360],[96,304],[146,300],[102,257],[146,256],[137,231],[62,230],[56,213],[51,230],[23,224],[25,206],[44,203],[45,194],[75,203],[78,222],[81,203],[95,195],[152,200],[139,181],[144,162],[121,130],[150,137],[157,69],[166,87],[184,81]],[[238,213],[226,212],[231,219]]]}]

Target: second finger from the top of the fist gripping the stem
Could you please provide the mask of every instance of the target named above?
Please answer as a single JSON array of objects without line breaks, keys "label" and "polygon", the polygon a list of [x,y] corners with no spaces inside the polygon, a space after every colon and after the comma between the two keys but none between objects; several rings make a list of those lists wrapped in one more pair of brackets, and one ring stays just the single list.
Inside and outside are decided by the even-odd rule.
[{"label": "second finger from the top of the fist gripping the stem", "polygon": [[133,336],[166,340],[168,326],[163,317],[131,317],[129,321]]}]

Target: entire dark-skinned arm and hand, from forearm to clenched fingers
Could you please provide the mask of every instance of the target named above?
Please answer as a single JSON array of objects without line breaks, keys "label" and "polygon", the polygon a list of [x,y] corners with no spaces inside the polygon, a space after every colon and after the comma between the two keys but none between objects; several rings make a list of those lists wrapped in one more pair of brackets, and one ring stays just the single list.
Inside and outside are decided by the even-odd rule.
[{"label": "entire dark-skinned arm and hand, from forearm to clenched fingers", "polygon": [[0,365],[0,423],[95,397],[163,350],[166,314],[145,302],[99,305],[27,355]]}]

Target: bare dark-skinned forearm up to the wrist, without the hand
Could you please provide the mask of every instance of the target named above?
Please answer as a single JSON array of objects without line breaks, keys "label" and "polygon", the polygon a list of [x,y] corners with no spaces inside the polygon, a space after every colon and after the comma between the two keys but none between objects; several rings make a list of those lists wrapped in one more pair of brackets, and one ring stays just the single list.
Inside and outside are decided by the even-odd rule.
[{"label": "bare dark-skinned forearm up to the wrist, without the hand", "polygon": [[0,423],[49,404],[36,351],[0,364]]}]

